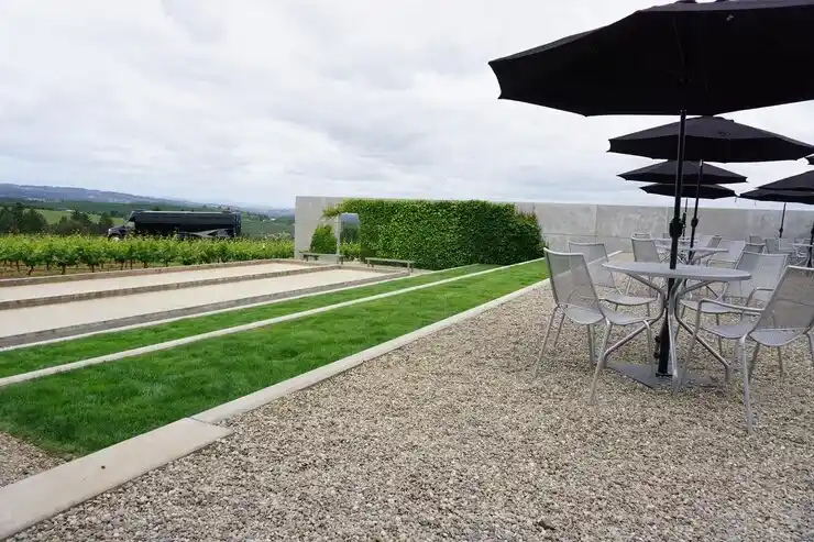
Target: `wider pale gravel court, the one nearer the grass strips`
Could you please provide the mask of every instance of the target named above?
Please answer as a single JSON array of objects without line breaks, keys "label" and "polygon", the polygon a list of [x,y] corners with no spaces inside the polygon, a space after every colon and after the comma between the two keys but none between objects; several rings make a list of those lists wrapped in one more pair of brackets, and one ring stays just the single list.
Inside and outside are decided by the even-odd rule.
[{"label": "wider pale gravel court, the one nearer the grass strips", "polygon": [[[290,268],[289,265],[280,265],[286,268]],[[0,311],[0,341],[2,341],[2,338],[14,335],[45,332],[47,330],[91,324],[109,320],[128,319],[142,314],[161,313],[289,290],[339,285],[375,277],[386,278],[386,276],[376,272],[362,269],[332,269],[302,275],[229,283],[216,286],[201,286],[198,288],[135,294],[114,298],[3,310]],[[52,285],[33,286],[32,288],[44,288],[45,286]],[[58,286],[73,285],[66,284]]]}]

